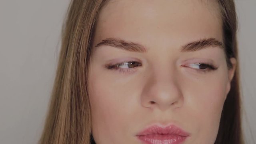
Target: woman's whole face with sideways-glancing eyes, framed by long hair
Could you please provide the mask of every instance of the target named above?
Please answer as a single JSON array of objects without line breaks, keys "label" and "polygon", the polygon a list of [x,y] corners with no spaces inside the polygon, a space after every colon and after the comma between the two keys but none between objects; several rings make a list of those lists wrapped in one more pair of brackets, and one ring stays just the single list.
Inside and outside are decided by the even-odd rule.
[{"label": "woman's whole face with sideways-glancing eyes, framed by long hair", "polygon": [[234,74],[217,8],[210,0],[102,8],[88,66],[96,144],[214,144]]}]

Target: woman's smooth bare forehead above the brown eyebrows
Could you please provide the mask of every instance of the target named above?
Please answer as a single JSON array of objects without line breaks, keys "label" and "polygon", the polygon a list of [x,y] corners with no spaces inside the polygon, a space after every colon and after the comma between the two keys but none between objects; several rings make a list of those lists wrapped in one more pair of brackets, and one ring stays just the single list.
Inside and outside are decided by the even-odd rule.
[{"label": "woman's smooth bare forehead above the brown eyebrows", "polygon": [[213,0],[110,0],[96,24],[95,41],[122,38],[176,46],[200,38],[222,41],[218,4]]}]

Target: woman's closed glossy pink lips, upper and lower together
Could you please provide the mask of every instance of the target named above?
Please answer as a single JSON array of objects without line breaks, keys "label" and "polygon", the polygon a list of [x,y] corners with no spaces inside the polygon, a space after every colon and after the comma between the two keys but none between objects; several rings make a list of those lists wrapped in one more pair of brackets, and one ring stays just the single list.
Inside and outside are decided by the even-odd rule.
[{"label": "woman's closed glossy pink lips, upper and lower together", "polygon": [[153,125],[136,136],[145,144],[182,144],[189,134],[172,124],[165,127]]}]

